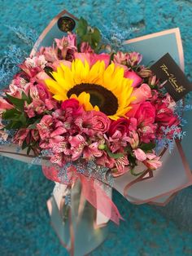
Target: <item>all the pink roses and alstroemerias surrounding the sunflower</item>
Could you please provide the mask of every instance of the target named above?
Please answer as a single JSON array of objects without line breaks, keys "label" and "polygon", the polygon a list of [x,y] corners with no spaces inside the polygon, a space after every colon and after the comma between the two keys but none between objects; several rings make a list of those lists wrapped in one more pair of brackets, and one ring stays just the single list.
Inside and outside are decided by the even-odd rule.
[{"label": "all the pink roses and alstroemerias surrounding the sunflower", "polygon": [[[52,47],[42,47],[36,55],[20,64],[16,74],[5,91],[15,99],[24,100],[24,117],[36,126],[23,126],[16,131],[13,143],[30,145],[38,154],[49,149],[50,161],[63,166],[68,161],[94,160],[99,166],[111,169],[114,176],[124,174],[142,162],[151,170],[161,166],[153,148],[145,149],[155,139],[163,137],[164,128],[177,126],[179,120],[174,114],[175,103],[163,95],[159,81],[151,70],[142,66],[142,55],[137,52],[117,52],[111,55],[94,53],[88,42],[81,43],[77,51],[76,34],[55,39]],[[74,59],[87,60],[91,66],[97,60],[107,65],[110,60],[124,68],[124,77],[133,79],[132,109],[117,121],[111,121],[104,113],[88,111],[76,99],[58,102],[47,90],[44,80],[50,78],[50,71],[63,62],[70,66]],[[47,72],[48,70],[48,72]],[[24,98],[24,99],[25,99]],[[1,113],[14,109],[14,104],[5,97],[0,98]],[[6,135],[3,135],[6,137]],[[168,134],[172,139],[173,131]]]}]

